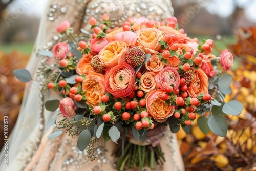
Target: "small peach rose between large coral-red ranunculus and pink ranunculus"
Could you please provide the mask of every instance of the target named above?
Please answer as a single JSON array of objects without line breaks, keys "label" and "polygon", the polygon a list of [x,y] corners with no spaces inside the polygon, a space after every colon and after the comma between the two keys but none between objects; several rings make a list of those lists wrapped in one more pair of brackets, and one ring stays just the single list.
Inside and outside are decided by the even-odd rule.
[{"label": "small peach rose between large coral-red ranunculus and pink ranunculus", "polygon": [[149,92],[156,88],[156,74],[154,72],[145,72],[140,78],[140,89]]}]

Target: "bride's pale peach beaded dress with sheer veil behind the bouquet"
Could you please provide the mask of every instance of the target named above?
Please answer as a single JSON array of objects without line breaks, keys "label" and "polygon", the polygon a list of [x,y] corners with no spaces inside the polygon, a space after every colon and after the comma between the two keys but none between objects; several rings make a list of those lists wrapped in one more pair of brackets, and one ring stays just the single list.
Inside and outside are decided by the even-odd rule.
[{"label": "bride's pale peach beaded dress with sheer veil behind the bouquet", "polygon": [[[45,15],[41,18],[35,48],[27,66],[34,78],[38,75],[39,81],[31,81],[26,86],[18,121],[9,138],[8,167],[1,162],[0,170],[115,170],[115,161],[111,153],[116,144],[111,141],[106,144],[98,142],[98,157],[91,161],[86,151],[78,150],[77,137],[71,138],[64,133],[54,139],[47,138],[47,135],[54,131],[53,127],[46,126],[54,113],[44,109],[43,100],[58,97],[55,97],[53,92],[43,96],[40,91],[40,63],[45,61],[37,57],[37,52],[53,47],[59,38],[55,27],[66,19],[71,20],[75,33],[79,33],[80,28],[90,29],[90,17],[99,20],[104,13],[109,14],[115,25],[119,25],[129,17],[145,16],[154,20],[164,20],[172,16],[173,12],[170,0],[49,1]],[[166,162],[159,170],[184,170],[176,137],[169,130],[166,133],[161,140]],[[2,150],[1,160],[5,155]]]}]

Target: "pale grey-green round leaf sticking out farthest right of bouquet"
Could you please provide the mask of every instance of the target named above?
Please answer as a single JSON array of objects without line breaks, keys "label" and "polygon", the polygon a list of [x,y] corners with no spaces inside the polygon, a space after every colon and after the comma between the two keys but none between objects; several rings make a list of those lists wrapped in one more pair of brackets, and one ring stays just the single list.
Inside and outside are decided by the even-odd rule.
[{"label": "pale grey-green round leaf sticking out farthest right of bouquet", "polygon": [[231,100],[228,103],[225,103],[222,111],[229,115],[237,116],[241,114],[243,110],[243,104],[237,100]]}]

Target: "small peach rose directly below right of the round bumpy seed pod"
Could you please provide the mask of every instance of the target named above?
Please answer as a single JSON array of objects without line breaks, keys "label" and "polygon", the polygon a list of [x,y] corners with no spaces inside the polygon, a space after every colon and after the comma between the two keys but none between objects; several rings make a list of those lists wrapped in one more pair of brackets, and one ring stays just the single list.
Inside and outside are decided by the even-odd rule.
[{"label": "small peach rose directly below right of the round bumpy seed pod", "polygon": [[154,73],[158,73],[164,68],[164,63],[160,61],[158,55],[151,55],[150,60],[145,64],[146,70]]}]

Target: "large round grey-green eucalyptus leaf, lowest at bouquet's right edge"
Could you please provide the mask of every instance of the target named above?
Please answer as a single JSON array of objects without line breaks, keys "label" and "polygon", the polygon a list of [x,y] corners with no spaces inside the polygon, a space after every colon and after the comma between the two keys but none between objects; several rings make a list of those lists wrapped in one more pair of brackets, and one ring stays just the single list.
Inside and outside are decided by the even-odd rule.
[{"label": "large round grey-green eucalyptus leaf, lowest at bouquet's right edge", "polygon": [[227,120],[224,116],[220,114],[213,114],[210,115],[208,119],[208,125],[210,130],[221,137],[226,137],[227,135]]}]

